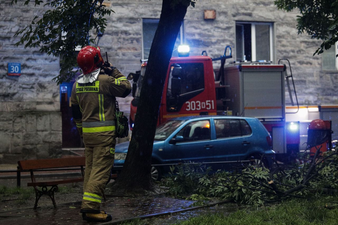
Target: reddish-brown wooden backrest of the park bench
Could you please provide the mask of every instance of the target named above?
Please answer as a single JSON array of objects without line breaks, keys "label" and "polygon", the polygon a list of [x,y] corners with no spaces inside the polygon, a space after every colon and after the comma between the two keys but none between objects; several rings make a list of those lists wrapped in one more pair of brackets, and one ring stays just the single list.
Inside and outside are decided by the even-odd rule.
[{"label": "reddish-brown wooden backrest of the park bench", "polygon": [[86,157],[70,157],[70,158],[51,158],[51,159],[31,159],[20,160],[18,165],[21,171],[37,170],[37,169],[52,169],[62,167],[84,166]]}]

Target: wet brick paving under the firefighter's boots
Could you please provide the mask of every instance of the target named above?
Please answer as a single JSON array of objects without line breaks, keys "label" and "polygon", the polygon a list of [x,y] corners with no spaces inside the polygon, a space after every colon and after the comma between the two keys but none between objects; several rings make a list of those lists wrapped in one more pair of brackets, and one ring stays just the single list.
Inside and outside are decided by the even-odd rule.
[{"label": "wet brick paving under the firefighter's boots", "polygon": [[[170,198],[162,195],[153,197],[107,197],[102,202],[101,209],[110,213],[113,220],[102,224],[116,224],[133,218],[148,218],[160,215],[172,215],[181,210],[193,210],[198,207],[191,207],[194,201]],[[51,208],[52,205],[31,208],[13,209],[0,212],[0,224],[96,224],[87,223],[79,213],[81,202],[66,203],[58,205],[58,209]],[[181,213],[183,219],[189,215],[189,211]],[[177,218],[172,221],[175,223]],[[169,221],[167,221],[169,222]],[[155,224],[151,222],[150,224]],[[161,222],[160,224],[165,224]]]}]

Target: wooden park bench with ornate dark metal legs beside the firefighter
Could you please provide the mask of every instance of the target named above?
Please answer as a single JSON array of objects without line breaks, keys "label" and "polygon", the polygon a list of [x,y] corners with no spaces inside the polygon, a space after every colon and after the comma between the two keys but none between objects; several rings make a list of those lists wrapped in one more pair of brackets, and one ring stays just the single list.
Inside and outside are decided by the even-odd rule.
[{"label": "wooden park bench with ornate dark metal legs beside the firefighter", "polygon": [[[42,195],[48,195],[53,202],[54,208],[57,208],[54,192],[58,191],[58,184],[82,182],[84,179],[84,166],[86,165],[85,157],[70,157],[70,158],[52,158],[52,159],[33,159],[18,161],[21,172],[29,171],[32,182],[27,183],[27,186],[32,186],[35,191],[34,209],[38,207],[38,201]],[[76,168],[81,170],[81,177],[62,180],[50,180],[37,182],[34,177],[34,171],[44,171],[46,169],[56,168]],[[51,175],[52,176],[52,175]],[[112,174],[111,178],[116,178],[117,174]],[[38,189],[41,188],[41,190]],[[47,187],[51,187],[49,190]],[[105,199],[105,196],[103,196]]]}]

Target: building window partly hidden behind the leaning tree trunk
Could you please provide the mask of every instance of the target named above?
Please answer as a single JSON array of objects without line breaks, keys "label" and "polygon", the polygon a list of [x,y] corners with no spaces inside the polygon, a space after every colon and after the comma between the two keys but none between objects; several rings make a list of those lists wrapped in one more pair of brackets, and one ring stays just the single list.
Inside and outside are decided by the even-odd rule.
[{"label": "building window partly hidden behind the leaning tree trunk", "polygon": [[[142,19],[142,59],[148,59],[152,40],[154,39],[155,31],[159,19]],[[182,35],[181,35],[182,34]],[[178,56],[177,47],[184,43],[184,23],[178,32],[172,56]]]}]

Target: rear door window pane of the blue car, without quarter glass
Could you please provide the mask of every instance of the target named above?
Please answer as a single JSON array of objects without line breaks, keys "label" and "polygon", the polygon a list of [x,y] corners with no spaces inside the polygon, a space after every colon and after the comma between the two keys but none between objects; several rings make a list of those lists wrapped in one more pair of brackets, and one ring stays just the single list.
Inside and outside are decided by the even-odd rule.
[{"label": "rear door window pane of the blue car, without quarter glass", "polygon": [[242,136],[240,120],[217,119],[214,121],[216,129],[216,139]]}]

